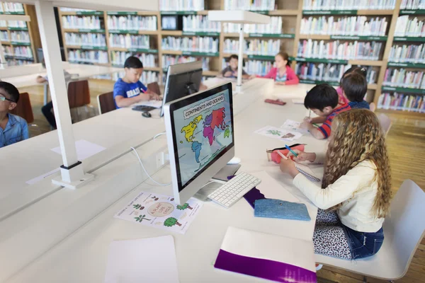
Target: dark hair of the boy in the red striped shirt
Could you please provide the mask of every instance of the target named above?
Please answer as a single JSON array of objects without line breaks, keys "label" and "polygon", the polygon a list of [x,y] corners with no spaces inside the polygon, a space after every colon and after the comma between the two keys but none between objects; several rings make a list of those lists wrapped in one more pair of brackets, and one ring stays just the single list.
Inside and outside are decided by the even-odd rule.
[{"label": "dark hair of the boy in the red striped shirt", "polygon": [[336,89],[327,83],[314,86],[305,96],[304,106],[307,109],[318,109],[323,111],[327,106],[336,108],[338,105],[338,93]]}]

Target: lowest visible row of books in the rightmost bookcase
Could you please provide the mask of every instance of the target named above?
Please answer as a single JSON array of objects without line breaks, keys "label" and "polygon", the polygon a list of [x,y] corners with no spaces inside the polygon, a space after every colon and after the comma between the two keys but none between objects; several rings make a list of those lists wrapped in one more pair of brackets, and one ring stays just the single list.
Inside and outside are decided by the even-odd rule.
[{"label": "lowest visible row of books in the rightmost bookcase", "polygon": [[424,96],[403,93],[382,93],[378,100],[378,109],[400,110],[425,113]]}]

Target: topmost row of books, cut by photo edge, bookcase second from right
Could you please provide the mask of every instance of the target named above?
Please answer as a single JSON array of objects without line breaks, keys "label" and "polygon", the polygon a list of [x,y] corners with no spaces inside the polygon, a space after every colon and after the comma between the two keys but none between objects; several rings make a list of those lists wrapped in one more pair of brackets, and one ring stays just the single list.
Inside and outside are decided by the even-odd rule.
[{"label": "topmost row of books, cut by photo edge, bookcase second from right", "polygon": [[395,8],[396,0],[304,0],[303,10],[385,10]]}]

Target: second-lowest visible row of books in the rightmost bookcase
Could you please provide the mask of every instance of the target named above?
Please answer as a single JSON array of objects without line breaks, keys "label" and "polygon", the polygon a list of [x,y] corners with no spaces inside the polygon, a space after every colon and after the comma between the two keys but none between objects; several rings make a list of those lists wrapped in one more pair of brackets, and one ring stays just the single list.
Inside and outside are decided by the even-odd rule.
[{"label": "second-lowest visible row of books in the rightmost bookcase", "polygon": [[382,86],[399,88],[425,88],[424,71],[388,68]]}]

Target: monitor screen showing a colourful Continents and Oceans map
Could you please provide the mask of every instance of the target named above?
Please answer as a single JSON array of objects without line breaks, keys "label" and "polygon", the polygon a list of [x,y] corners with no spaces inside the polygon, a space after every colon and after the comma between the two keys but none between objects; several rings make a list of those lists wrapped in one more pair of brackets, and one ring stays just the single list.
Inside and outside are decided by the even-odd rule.
[{"label": "monitor screen showing a colourful Continents and Oceans map", "polygon": [[179,192],[234,146],[232,109],[227,84],[171,104]]}]

